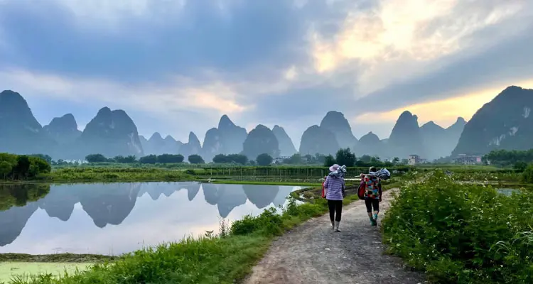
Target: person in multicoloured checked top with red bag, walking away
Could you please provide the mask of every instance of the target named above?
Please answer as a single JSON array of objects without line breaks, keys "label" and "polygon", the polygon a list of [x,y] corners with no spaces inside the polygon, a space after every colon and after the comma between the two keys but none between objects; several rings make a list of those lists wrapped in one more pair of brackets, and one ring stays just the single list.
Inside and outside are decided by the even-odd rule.
[{"label": "person in multicoloured checked top with red bag, walking away", "polygon": [[[376,172],[376,167],[370,167],[367,175],[361,175],[361,183],[363,186],[365,186],[365,205],[367,207],[368,218],[370,219],[370,224],[372,226],[377,226],[379,202],[382,201],[383,194],[381,180],[377,177]],[[372,209],[374,209],[373,215]]]}]

